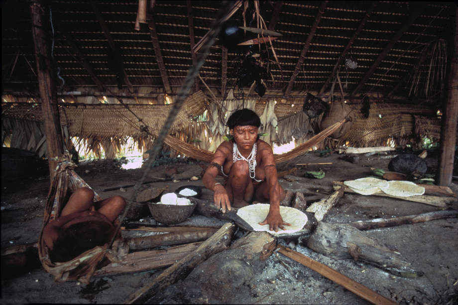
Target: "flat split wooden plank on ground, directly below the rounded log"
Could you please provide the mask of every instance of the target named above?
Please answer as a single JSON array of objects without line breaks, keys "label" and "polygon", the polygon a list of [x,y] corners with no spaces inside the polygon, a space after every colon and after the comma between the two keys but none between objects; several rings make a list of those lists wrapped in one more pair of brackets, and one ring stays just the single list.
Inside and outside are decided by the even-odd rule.
[{"label": "flat split wooden plank on ground, directly below the rounded log", "polygon": [[127,254],[120,263],[111,263],[97,270],[94,275],[125,274],[168,267],[195,251],[201,244],[193,242],[164,250],[133,252]]}]

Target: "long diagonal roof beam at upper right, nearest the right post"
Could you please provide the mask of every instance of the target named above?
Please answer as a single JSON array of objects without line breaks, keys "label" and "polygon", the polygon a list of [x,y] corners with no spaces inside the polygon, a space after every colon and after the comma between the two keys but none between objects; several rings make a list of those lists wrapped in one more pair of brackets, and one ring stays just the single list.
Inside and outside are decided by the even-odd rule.
[{"label": "long diagonal roof beam at upper right, nearest the right post", "polygon": [[426,2],[418,2],[418,4],[415,6],[414,11],[412,11],[409,14],[409,18],[403,23],[401,28],[394,34],[393,38],[391,38],[390,42],[386,45],[386,47],[383,49],[383,51],[378,55],[377,59],[374,61],[372,66],[370,66],[369,70],[366,72],[366,74],[363,76],[363,78],[359,81],[358,85],[356,88],[353,90],[351,93],[351,96],[354,96],[356,93],[359,92],[359,90],[364,86],[364,84],[367,82],[367,80],[371,77],[371,75],[374,73],[375,69],[377,69],[378,65],[383,61],[385,56],[388,54],[388,52],[391,50],[391,48],[394,46],[394,44],[401,38],[402,34],[409,28],[410,25],[417,19],[417,17],[420,15],[420,13],[423,11],[423,9],[426,7]]}]

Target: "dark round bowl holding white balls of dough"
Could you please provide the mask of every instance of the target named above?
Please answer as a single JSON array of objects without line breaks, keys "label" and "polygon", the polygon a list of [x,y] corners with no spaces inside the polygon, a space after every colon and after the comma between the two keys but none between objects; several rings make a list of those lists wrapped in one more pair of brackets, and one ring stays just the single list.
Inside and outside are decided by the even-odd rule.
[{"label": "dark round bowl holding white balls of dough", "polygon": [[147,204],[153,218],[157,222],[165,224],[176,224],[185,221],[197,206],[197,203],[191,203],[190,205]]}]

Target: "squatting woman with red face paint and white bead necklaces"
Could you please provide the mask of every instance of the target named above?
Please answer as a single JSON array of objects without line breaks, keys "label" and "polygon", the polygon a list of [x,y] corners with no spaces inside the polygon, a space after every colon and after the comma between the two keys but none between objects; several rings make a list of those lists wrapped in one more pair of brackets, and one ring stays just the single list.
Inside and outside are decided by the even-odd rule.
[{"label": "squatting woman with red face paint and white bead necklaces", "polygon": [[[259,224],[268,224],[270,230],[284,230],[290,225],[280,215],[285,191],[278,183],[272,147],[259,139],[259,116],[244,108],[232,113],[227,125],[232,139],[217,148],[203,177],[205,187],[214,191],[215,204],[223,213],[231,205],[242,207],[253,200],[269,200],[269,213]],[[219,171],[226,177],[224,186],[215,179]]]}]

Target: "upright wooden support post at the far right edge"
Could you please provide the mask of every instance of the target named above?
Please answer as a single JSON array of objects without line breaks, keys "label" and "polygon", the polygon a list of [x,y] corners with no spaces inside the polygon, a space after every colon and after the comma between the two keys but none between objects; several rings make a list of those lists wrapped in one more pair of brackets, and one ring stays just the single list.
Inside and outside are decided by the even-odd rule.
[{"label": "upright wooden support post at the far right edge", "polygon": [[452,183],[455,144],[457,142],[458,117],[458,12],[455,3],[455,24],[453,27],[453,51],[450,61],[447,102],[444,107],[444,118],[441,129],[441,162],[438,171],[439,185],[448,186]]}]

